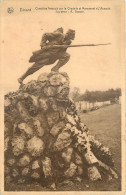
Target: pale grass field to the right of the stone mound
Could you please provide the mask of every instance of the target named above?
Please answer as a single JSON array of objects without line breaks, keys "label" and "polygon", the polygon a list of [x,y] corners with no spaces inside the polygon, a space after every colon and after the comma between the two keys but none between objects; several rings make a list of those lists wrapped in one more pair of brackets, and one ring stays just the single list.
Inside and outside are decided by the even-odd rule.
[{"label": "pale grass field to the right of the stone mound", "polygon": [[[119,175],[119,180],[114,181],[111,185],[115,190],[119,190],[121,181],[121,105],[113,104],[86,114],[78,114],[81,121],[89,128],[89,133],[110,148]],[[112,186],[108,186],[108,188]]]}]

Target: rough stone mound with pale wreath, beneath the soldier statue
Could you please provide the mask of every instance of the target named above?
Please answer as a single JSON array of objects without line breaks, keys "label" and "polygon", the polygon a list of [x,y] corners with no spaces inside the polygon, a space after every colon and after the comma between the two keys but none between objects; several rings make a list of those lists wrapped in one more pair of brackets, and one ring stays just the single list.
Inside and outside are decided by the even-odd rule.
[{"label": "rough stone mound with pale wreath, beneath the soldier statue", "polygon": [[68,75],[51,72],[5,95],[5,183],[118,178],[109,149],[88,135],[69,90]]}]

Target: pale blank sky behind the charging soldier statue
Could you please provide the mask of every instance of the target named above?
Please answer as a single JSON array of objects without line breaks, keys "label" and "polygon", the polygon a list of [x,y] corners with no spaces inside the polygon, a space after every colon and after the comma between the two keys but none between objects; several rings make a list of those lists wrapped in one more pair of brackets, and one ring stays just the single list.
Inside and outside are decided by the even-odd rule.
[{"label": "pale blank sky behind the charging soldier statue", "polygon": [[[56,7],[54,3],[49,4]],[[8,6],[8,5],[7,5]],[[35,11],[43,4],[15,4],[13,14],[4,13],[2,18],[2,86],[4,93],[18,89],[17,79],[31,66],[28,62],[32,52],[40,49],[42,34],[63,27],[76,31],[72,44],[112,43],[108,46],[69,48],[70,61],[60,71],[67,72],[71,88],[79,87],[81,92],[88,90],[106,90],[121,87],[121,9],[119,6],[101,4],[110,7],[108,11],[85,11],[81,14],[56,14],[54,11]],[[44,4],[46,5],[46,2]],[[62,3],[68,7],[68,3]],[[71,7],[79,7],[81,4]],[[85,7],[98,7],[96,3],[84,3]],[[19,12],[19,8],[32,8],[31,12]],[[58,7],[58,3],[57,3]],[[6,6],[3,12],[6,11]],[[24,83],[37,79],[43,72],[49,72],[53,65],[46,66],[27,77]]]}]

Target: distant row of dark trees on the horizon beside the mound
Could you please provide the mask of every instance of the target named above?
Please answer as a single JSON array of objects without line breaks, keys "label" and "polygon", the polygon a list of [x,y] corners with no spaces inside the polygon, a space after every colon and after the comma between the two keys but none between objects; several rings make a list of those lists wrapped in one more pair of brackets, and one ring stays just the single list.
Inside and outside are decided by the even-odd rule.
[{"label": "distant row of dark trees on the horizon beside the mound", "polygon": [[80,89],[75,87],[71,92],[72,99],[76,101],[89,101],[89,102],[102,102],[111,99],[119,98],[121,95],[121,89],[108,89],[106,91],[88,91],[85,93],[80,93]]}]

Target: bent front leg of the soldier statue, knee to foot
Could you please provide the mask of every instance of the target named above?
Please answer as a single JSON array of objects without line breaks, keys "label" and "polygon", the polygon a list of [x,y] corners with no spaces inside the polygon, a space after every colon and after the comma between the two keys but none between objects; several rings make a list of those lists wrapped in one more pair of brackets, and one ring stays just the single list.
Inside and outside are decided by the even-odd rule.
[{"label": "bent front leg of the soldier statue, knee to foot", "polygon": [[61,58],[59,58],[58,63],[51,69],[51,71],[58,72],[59,68],[65,65],[70,59],[70,54],[65,53]]}]

